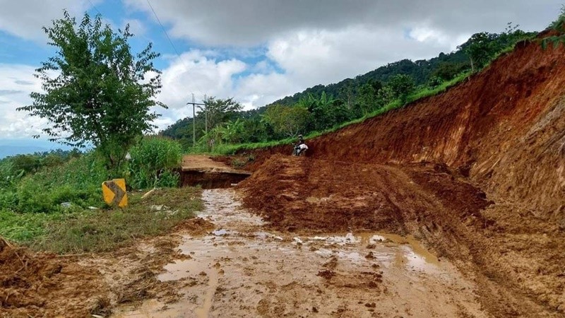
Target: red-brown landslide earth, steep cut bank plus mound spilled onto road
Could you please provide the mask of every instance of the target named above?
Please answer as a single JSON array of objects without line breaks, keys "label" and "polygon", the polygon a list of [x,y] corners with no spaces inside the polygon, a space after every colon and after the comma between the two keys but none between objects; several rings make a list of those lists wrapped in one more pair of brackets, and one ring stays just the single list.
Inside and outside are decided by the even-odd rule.
[{"label": "red-brown landslide earth, steep cut bank plus mound spilled onto road", "polygon": [[309,158],[256,151],[244,201],[287,230],[412,232],[494,317],[565,317],[564,53],[523,42],[446,93],[307,141]]}]

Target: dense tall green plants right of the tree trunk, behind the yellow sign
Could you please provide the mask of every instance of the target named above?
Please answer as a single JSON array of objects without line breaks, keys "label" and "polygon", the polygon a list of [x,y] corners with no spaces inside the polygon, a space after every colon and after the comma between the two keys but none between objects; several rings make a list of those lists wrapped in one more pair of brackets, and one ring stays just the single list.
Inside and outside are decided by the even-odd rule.
[{"label": "dense tall green plants right of the tree trunk, behind the yellow sign", "polygon": [[177,187],[182,148],[177,141],[146,137],[131,148],[128,183],[134,189]]}]

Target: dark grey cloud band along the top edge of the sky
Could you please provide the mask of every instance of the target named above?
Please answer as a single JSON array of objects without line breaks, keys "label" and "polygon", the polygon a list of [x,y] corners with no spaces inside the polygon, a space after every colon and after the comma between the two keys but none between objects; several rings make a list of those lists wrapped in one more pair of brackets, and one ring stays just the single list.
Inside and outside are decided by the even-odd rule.
[{"label": "dark grey cloud band along the top edge of the sky", "polygon": [[[124,0],[154,19],[147,1]],[[507,22],[540,30],[559,13],[562,0],[239,0],[153,1],[163,23],[175,37],[204,45],[259,45],[283,33],[300,30],[335,31],[355,25],[367,28],[408,28],[424,23],[448,37],[500,31]]]}]

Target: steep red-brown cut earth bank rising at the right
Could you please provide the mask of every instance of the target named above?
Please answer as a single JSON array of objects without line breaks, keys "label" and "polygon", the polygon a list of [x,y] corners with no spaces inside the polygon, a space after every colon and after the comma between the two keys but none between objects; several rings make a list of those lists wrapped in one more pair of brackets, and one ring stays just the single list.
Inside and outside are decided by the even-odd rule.
[{"label": "steep red-brown cut earth bank rising at the right", "polygon": [[[307,141],[311,158],[446,164],[565,224],[565,46],[521,42],[446,93]],[[290,146],[254,151],[255,171]],[[242,154],[243,155],[243,154]]]}]

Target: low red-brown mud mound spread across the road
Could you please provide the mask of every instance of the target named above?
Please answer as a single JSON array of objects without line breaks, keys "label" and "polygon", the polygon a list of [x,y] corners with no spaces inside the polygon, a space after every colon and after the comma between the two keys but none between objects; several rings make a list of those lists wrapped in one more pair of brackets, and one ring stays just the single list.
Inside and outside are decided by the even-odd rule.
[{"label": "low red-brown mud mound spread across the road", "polygon": [[[333,163],[273,155],[242,182],[244,204],[283,230],[385,230],[406,234],[407,218],[434,223],[438,211],[484,224],[485,194],[446,169]],[[441,222],[441,220],[437,220]]]}]

